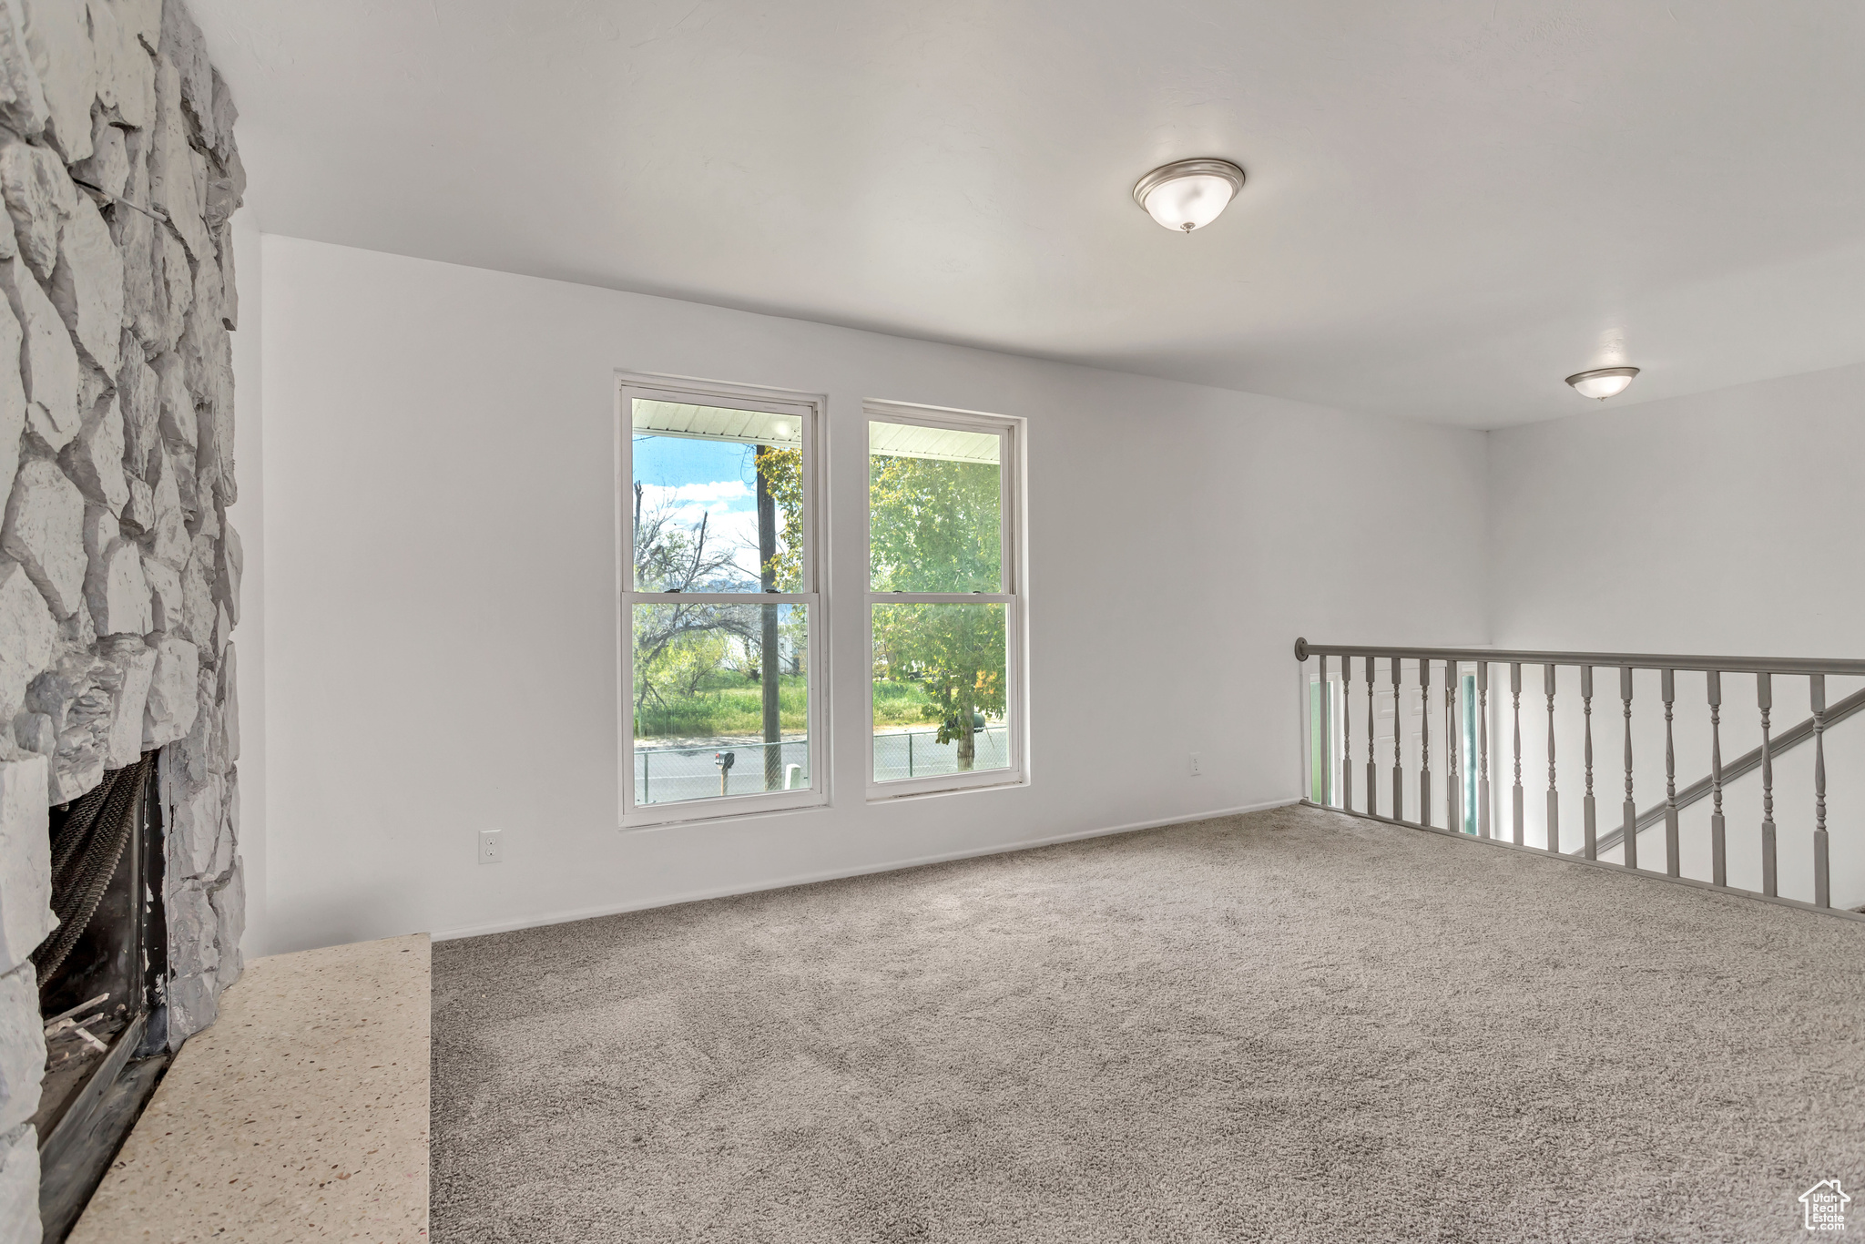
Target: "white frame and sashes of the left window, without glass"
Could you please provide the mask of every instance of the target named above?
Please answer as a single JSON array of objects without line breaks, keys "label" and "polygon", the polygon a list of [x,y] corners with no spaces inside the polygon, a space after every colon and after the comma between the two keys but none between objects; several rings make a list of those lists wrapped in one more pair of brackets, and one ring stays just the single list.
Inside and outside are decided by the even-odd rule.
[{"label": "white frame and sashes of the left window, without glass", "polygon": [[[636,591],[634,589],[634,399],[675,401],[733,410],[763,410],[798,420],[802,429],[802,591]],[[828,804],[828,522],[822,507],[824,394],[696,380],[636,371],[615,373],[615,642],[621,681],[615,688],[619,722],[617,761],[623,830],[722,821],[757,813],[794,811]],[[634,804],[634,606],[696,601],[705,604],[806,604],[809,608],[809,785],[794,791],[757,791],[673,804]]]}]

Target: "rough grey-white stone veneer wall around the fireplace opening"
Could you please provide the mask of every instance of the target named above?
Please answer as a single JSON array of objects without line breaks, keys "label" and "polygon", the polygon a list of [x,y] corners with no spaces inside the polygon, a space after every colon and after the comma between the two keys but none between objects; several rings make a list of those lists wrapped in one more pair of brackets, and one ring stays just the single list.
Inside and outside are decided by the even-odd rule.
[{"label": "rough grey-white stone veneer wall around the fireplace opening", "polygon": [[0,0],[0,1244],[39,1238],[47,806],[175,744],[172,1046],[241,972],[233,117],[181,0]]}]

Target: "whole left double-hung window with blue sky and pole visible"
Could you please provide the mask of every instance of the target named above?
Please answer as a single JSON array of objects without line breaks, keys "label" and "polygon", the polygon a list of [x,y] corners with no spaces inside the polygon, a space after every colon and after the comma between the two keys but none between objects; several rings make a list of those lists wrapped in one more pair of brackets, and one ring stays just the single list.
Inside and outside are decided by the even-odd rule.
[{"label": "whole left double-hung window with blue sky and pole visible", "polygon": [[623,824],[826,798],[819,397],[623,377]]}]

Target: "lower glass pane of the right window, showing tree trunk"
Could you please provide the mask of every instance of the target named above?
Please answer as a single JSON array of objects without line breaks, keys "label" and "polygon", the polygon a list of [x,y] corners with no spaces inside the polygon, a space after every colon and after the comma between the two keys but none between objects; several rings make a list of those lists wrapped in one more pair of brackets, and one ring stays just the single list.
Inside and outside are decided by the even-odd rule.
[{"label": "lower glass pane of the right window, showing tree trunk", "polygon": [[875,781],[1009,768],[1002,604],[877,604]]}]

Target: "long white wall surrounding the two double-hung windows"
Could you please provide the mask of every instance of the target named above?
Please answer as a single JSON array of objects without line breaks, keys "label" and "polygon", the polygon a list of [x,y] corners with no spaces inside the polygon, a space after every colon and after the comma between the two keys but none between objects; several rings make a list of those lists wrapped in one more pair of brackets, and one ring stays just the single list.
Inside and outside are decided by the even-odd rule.
[{"label": "long white wall surrounding the two double-hung windows", "polygon": [[[1485,638],[1481,433],[285,237],[263,265],[267,949],[1291,800],[1298,632]],[[615,369],[830,395],[826,809],[615,828]],[[863,397],[1029,418],[1028,787],[863,800]]]}]

